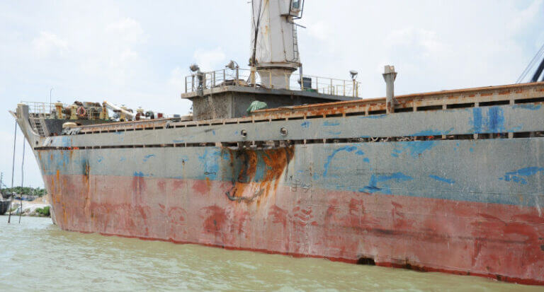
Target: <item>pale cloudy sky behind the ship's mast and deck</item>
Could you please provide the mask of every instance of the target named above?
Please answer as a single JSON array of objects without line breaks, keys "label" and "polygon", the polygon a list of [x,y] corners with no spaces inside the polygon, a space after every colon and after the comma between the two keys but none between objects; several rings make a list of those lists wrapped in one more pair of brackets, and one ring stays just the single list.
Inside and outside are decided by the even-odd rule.
[{"label": "pale cloudy sky behind the ship's mast and deck", "polygon": [[[21,101],[125,104],[185,114],[188,66],[222,69],[249,59],[248,0],[0,1],[0,172],[11,187],[14,122]],[[544,43],[544,0],[307,0],[298,30],[304,73],[348,79],[361,95],[515,83]],[[23,146],[16,144],[14,185]],[[24,185],[42,186],[26,148]]]}]

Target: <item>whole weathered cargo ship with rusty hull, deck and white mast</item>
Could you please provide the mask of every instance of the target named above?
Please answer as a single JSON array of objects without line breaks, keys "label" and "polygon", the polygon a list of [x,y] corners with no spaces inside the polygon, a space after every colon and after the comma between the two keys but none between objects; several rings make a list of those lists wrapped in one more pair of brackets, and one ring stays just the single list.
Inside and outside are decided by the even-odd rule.
[{"label": "whole weathered cargo ship with rusty hull, deck and white mast", "polygon": [[191,66],[192,115],[11,112],[60,228],[544,284],[544,82],[395,95],[385,66],[360,98],[302,74],[302,1],[251,7],[250,69]]}]

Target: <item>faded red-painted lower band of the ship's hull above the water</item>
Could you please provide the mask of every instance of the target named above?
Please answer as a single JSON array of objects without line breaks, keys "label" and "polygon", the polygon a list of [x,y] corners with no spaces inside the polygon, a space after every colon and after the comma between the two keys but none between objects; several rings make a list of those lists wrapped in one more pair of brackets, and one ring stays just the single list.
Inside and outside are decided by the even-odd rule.
[{"label": "faded red-painted lower band of the ship's hull above the water", "polygon": [[233,202],[225,194],[230,182],[60,174],[45,181],[64,230],[344,262],[371,258],[544,285],[544,216],[536,208],[284,186]]}]

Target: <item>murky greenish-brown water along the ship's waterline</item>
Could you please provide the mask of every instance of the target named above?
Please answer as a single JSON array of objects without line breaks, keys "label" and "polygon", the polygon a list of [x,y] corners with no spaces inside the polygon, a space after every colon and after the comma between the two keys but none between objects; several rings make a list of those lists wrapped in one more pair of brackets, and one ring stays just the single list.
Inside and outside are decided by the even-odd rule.
[{"label": "murky greenish-brown water along the ship's waterline", "polygon": [[475,276],[62,231],[0,216],[0,290],[541,291]]}]

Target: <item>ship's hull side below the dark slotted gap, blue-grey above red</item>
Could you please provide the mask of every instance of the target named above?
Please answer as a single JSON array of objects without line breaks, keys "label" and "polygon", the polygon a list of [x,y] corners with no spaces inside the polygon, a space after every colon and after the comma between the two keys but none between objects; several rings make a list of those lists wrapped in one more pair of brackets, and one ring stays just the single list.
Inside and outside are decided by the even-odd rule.
[{"label": "ship's hull side below the dark slotted gap, blue-grey above red", "polygon": [[544,284],[544,139],[428,142],[37,156],[64,230]]}]

